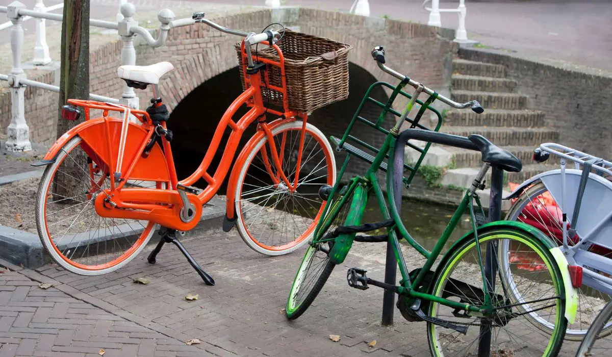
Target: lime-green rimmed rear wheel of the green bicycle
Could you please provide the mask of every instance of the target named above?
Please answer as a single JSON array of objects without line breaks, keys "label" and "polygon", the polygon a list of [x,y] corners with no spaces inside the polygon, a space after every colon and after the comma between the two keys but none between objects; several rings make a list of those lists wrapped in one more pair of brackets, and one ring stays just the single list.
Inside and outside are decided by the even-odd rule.
[{"label": "lime-green rimmed rear wheel of the green bicycle", "polygon": [[[559,287],[560,277],[556,271],[551,271],[548,268],[554,263],[539,245],[534,244],[531,239],[513,233],[495,233],[479,239],[483,259],[485,258],[486,251],[484,247],[487,246],[485,243],[493,242],[499,246],[501,241],[506,239],[510,240],[510,244],[513,247],[517,246],[517,251],[529,252],[534,257],[539,257],[542,261],[547,262],[547,265],[543,266],[543,270],[534,272],[531,275],[524,274],[520,277],[520,280],[517,279],[515,282],[517,285],[521,285],[521,287],[530,289],[523,291],[523,296],[529,296],[528,301],[530,302],[528,307],[525,308],[542,309],[541,311],[546,311],[547,314],[553,317],[558,326],[562,326],[562,321],[564,321],[564,303],[559,298],[559,291],[561,291]],[[519,246],[521,250],[518,250]],[[480,267],[476,263],[478,261],[476,250],[475,241],[468,242],[457,250],[441,272],[439,280],[435,282],[433,287],[434,295],[442,296],[447,287],[456,287],[457,285],[450,279],[457,279],[471,284],[469,291],[472,293],[476,291],[473,287],[482,289],[482,275]],[[515,267],[511,266],[511,269],[515,269]],[[515,274],[515,277],[518,278],[518,274]],[[482,315],[479,316],[477,313],[472,313],[469,317],[457,317],[453,315],[453,308],[438,303],[431,303],[431,316],[442,318],[458,325],[473,324],[473,326],[468,326],[468,333],[465,336],[452,329],[430,324],[428,326],[430,347],[435,356],[476,356],[478,353],[480,324],[483,321],[493,324],[491,328],[491,356],[550,356],[556,353],[556,350],[560,347],[560,340],[564,333],[562,330],[564,328],[556,328],[551,336],[551,334],[535,328],[529,322],[530,319],[526,317],[526,314],[523,314],[524,310],[516,309],[516,307],[502,309],[502,306],[508,306],[512,303],[510,303],[509,295],[504,293],[504,291],[507,291],[507,287],[501,284],[501,279],[500,274],[496,274],[494,292],[495,296],[499,298],[499,302],[493,304],[493,306],[498,307],[498,309],[495,309],[498,315],[496,319],[491,318],[491,315],[483,319]],[[463,291],[468,290],[464,288]],[[474,298],[470,299],[466,296],[462,298],[464,303],[468,301],[474,304]],[[457,296],[452,296],[450,299],[461,301]],[[535,301],[541,299],[546,300]],[[508,319],[509,316],[511,318]],[[499,321],[506,322],[501,323]],[[548,342],[546,342],[547,340]]]}]

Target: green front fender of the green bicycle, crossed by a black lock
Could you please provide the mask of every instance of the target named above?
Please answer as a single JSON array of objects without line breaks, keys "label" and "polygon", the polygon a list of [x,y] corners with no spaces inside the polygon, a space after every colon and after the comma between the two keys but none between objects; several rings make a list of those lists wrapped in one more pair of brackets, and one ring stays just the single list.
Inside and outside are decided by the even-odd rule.
[{"label": "green front fender of the green bicycle, crossed by a black lock", "polygon": [[[368,193],[364,186],[359,185],[353,193],[353,200],[346,204],[351,205],[349,212],[346,215],[345,222],[342,225],[360,225],[361,219],[364,217],[365,204],[368,201]],[[329,260],[334,264],[341,264],[351,250],[356,233],[347,233],[339,235],[334,240],[334,247],[329,252]]]}]

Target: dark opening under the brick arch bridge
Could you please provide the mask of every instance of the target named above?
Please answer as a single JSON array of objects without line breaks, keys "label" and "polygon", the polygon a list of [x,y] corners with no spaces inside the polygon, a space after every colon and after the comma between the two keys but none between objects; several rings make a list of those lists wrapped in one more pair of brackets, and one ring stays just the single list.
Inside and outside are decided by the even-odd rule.
[{"label": "dark opening under the brick arch bridge", "polygon": [[[341,137],[346,130],[346,126],[353,118],[353,115],[359,103],[361,102],[365,92],[372,83],[375,83],[376,78],[370,72],[363,69],[352,62],[349,63],[349,97],[341,102],[332,103],[324,108],[315,110],[308,117],[308,122],[318,127],[324,135],[329,138],[330,135]],[[168,127],[174,132],[172,149],[174,154],[174,162],[176,165],[177,176],[179,179],[189,176],[200,165],[201,160],[206,154],[209,143],[220,118],[225,113],[226,108],[241,94],[241,81],[239,77],[238,67],[234,67],[225,72],[219,73],[209,80],[204,81],[197,86],[193,91],[187,94],[172,111]],[[388,96],[381,88],[376,88],[371,93],[371,97],[386,102]],[[247,108],[243,106],[234,116],[237,120]],[[372,121],[376,121],[381,109],[375,105],[365,105],[361,115]],[[274,119],[274,118],[270,118]],[[393,118],[386,118],[384,127],[393,125]],[[237,151],[240,152],[242,146],[247,143],[255,132],[255,125],[252,124],[242,135],[241,143]],[[357,124],[354,127],[354,136],[364,140],[374,146],[380,146],[384,140],[384,135],[376,135],[374,130],[364,124]],[[210,175],[214,174],[214,169],[223,154],[223,143],[230,135],[230,130],[226,129],[220,149],[215,154],[211,167],[208,170]],[[333,147],[333,145],[332,145]],[[236,153],[236,156],[237,156]],[[345,154],[334,151],[338,170],[343,163]],[[235,159],[235,157],[234,157]],[[367,167],[364,162],[354,159],[349,165],[346,175],[351,175],[355,172],[360,172],[361,169]],[[348,176],[350,177],[350,176]],[[206,181],[200,179],[195,186],[205,187]],[[225,194],[226,182],[220,189],[220,194]]]}]

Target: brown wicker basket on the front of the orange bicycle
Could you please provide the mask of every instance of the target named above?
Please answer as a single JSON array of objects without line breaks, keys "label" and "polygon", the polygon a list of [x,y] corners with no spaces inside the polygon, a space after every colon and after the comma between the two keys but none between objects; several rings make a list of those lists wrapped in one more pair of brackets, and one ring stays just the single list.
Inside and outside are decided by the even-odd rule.
[{"label": "brown wicker basket on the front of the orange bicycle", "polygon": [[[317,108],[348,97],[348,51],[350,45],[300,32],[286,30],[277,43],[285,57],[285,75],[289,109],[310,113]],[[258,51],[252,47],[253,60],[258,58],[280,61],[274,48],[260,46]],[[241,43],[236,44],[238,61],[241,63]],[[244,78],[241,81],[245,89]],[[280,67],[268,65],[267,75],[270,85],[282,88]],[[261,86],[264,103],[283,106],[280,91]]]}]

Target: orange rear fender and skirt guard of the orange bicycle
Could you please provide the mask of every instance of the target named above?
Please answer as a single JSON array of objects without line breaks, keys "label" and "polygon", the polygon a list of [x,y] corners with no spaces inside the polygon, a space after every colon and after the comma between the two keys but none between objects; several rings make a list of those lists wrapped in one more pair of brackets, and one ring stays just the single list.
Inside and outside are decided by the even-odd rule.
[{"label": "orange rear fender and skirt guard of the orange bicycle", "polygon": [[[47,165],[48,163],[54,162],[61,148],[76,135],[84,141],[81,145],[86,146],[86,151],[95,154],[102,162],[106,163],[106,165],[115,163],[119,154],[119,138],[121,137],[122,119],[108,118],[110,143],[106,137],[104,121],[104,118],[90,119],[68,130],[64,135],[58,138],[53,146],[51,146],[43,159],[34,165]],[[168,163],[166,162],[166,157],[162,149],[157,143],[155,143],[146,159],[141,157],[141,152],[138,152],[143,141],[148,138],[149,131],[147,129],[133,122],[129,122],[122,168],[127,169],[133,160],[138,160],[128,179],[169,182],[170,173],[168,171]]]}]

